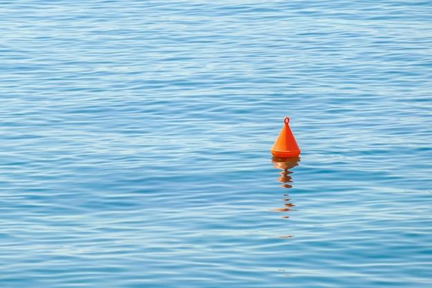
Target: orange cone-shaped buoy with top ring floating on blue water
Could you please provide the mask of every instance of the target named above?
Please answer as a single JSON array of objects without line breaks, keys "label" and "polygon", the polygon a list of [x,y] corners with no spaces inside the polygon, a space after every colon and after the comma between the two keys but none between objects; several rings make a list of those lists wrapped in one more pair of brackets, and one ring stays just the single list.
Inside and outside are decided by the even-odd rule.
[{"label": "orange cone-shaped buoy with top ring floating on blue water", "polygon": [[275,144],[271,147],[271,153],[275,157],[288,158],[300,155],[300,148],[295,142],[293,132],[291,132],[288,122],[290,119],[285,117],[284,126],[277,136]]}]

